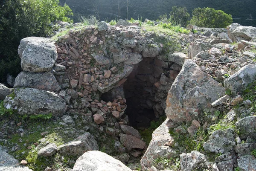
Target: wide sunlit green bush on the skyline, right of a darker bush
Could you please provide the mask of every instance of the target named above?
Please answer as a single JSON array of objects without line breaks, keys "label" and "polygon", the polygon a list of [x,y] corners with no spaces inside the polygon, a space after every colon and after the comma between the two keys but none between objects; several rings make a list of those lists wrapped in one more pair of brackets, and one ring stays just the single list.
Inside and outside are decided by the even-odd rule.
[{"label": "wide sunlit green bush on the skyline, right of a darker bush", "polygon": [[213,8],[196,8],[190,23],[198,27],[225,28],[233,22],[232,16]]}]

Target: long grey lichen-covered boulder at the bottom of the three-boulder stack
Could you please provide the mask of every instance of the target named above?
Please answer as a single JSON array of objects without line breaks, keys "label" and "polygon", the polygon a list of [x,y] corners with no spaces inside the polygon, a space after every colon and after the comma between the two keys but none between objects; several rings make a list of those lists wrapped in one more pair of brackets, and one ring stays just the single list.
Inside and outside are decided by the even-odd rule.
[{"label": "long grey lichen-covered boulder at the bottom of the three-boulder stack", "polygon": [[62,116],[66,102],[55,93],[33,88],[15,89],[15,98],[6,97],[6,109],[16,109],[21,115],[49,114]]}]

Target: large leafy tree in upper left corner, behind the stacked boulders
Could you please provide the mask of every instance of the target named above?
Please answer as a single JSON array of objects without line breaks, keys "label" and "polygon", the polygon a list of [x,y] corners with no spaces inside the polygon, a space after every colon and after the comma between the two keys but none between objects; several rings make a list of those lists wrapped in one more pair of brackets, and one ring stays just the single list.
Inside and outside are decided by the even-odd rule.
[{"label": "large leafy tree in upper left corner, behind the stacked boulders", "polygon": [[67,6],[59,6],[58,0],[2,0],[0,1],[0,81],[7,73],[20,72],[17,49],[20,40],[30,36],[47,37],[52,34],[52,22],[73,15]]}]

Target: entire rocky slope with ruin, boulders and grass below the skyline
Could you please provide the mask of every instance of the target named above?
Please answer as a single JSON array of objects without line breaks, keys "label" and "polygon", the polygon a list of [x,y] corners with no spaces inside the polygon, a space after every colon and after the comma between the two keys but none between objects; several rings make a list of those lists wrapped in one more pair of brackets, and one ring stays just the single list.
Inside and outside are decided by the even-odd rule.
[{"label": "entire rocky slope with ruin, boulders and grass below the skyline", "polygon": [[[15,90],[0,88],[1,98],[10,94],[1,115],[14,114],[1,118],[1,144],[36,171],[96,170],[105,162],[131,170],[140,159],[150,171],[254,169],[253,97],[241,91],[253,91],[255,28],[193,30],[119,20],[71,29],[55,44],[23,39]],[[147,146],[134,128],[161,116],[168,118]]]}]

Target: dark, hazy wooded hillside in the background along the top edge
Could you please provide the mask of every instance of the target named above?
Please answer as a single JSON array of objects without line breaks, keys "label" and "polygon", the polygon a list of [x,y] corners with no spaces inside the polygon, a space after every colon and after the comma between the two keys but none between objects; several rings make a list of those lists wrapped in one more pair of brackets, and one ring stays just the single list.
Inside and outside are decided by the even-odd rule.
[{"label": "dark, hazy wooded hillside in the background along the top edge", "polygon": [[[74,21],[79,22],[78,14],[96,15],[100,20],[126,18],[127,0],[60,0],[61,5],[67,3],[74,13]],[[160,15],[169,13],[172,6],[185,6],[190,14],[197,7],[221,9],[232,14],[233,21],[244,26],[256,26],[255,0],[128,0],[128,19],[137,19],[140,15],[150,20],[156,20]],[[119,6],[119,8],[118,8]],[[118,10],[119,9],[119,10]]]}]

